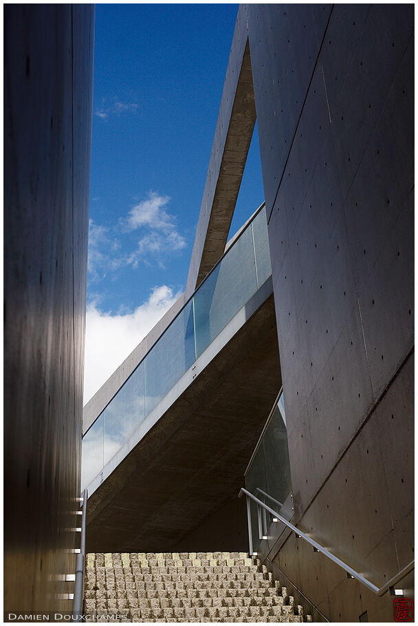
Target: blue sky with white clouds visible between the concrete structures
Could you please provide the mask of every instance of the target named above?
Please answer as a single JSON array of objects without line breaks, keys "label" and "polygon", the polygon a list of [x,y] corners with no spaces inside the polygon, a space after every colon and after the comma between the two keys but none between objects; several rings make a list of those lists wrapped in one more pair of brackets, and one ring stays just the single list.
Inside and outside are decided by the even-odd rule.
[{"label": "blue sky with white clouds visible between the concrete structures", "polygon": [[[86,401],[184,290],[237,11],[96,5]],[[255,130],[230,235],[262,201]]]}]

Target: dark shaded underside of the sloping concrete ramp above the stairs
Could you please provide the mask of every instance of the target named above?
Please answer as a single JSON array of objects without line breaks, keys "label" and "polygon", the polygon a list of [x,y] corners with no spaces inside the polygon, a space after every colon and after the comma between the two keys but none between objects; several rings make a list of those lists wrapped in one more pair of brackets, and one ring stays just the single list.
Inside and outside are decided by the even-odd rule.
[{"label": "dark shaded underside of the sloping concrete ramp above the stairs", "polygon": [[186,541],[238,495],[280,386],[270,296],[89,497],[87,550],[166,552]]}]

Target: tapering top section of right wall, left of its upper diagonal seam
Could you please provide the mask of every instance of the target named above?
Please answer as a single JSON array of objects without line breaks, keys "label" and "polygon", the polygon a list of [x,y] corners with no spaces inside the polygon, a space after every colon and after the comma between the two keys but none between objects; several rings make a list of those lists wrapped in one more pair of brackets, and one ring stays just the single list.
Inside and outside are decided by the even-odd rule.
[{"label": "tapering top section of right wall, left of its upper diagonal seam", "polygon": [[[260,4],[243,8],[248,22],[268,218],[279,185],[289,184],[294,193],[300,185],[292,175],[287,181],[283,173],[294,149],[298,120],[331,5],[304,4],[296,8],[287,4]],[[307,128],[307,132],[313,130]],[[311,155],[313,162],[314,154]],[[287,175],[289,171],[292,169],[288,169]]]}]

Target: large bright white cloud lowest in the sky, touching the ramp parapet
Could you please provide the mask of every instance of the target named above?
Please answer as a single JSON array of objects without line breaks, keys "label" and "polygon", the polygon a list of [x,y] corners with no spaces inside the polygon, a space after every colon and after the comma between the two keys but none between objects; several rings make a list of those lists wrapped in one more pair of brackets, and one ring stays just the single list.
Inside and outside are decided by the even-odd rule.
[{"label": "large bright white cloud lowest in the sky, touching the ramp parapet", "polygon": [[162,318],[179,294],[162,285],[151,290],[132,313],[113,315],[98,304],[87,306],[84,402],[88,402],[126,356]]}]

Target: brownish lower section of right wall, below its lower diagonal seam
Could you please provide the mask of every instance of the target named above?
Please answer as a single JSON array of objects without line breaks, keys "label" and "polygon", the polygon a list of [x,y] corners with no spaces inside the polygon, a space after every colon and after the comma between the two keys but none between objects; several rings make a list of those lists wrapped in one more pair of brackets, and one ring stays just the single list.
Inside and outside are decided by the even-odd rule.
[{"label": "brownish lower section of right wall, below its lower diagonal seam", "polygon": [[[399,427],[412,413],[412,406],[408,406],[413,389],[412,360],[410,356],[298,524],[377,587],[384,586],[414,559],[413,473],[405,471],[408,465],[403,462],[406,458],[410,464],[413,458],[413,424],[406,420],[404,428]],[[397,402],[399,396],[404,398],[402,407]],[[377,433],[386,433],[386,438]],[[301,463],[308,475],[309,461]],[[343,543],[341,537],[347,541]],[[346,620],[358,620],[364,611],[370,621],[391,620],[391,596],[377,598],[364,585],[347,580],[344,570],[314,554],[305,542],[295,542],[289,535],[276,552],[277,547],[272,548],[270,557],[281,568],[293,565],[294,584],[320,610],[326,607],[332,621],[340,620],[342,605],[347,608],[347,599],[340,594],[351,594],[353,587],[358,593],[349,595]],[[316,576],[322,577],[319,587]],[[353,582],[355,585],[347,584]],[[396,586],[408,588],[403,581]],[[413,583],[408,590],[408,596],[411,594],[413,598]]]}]

